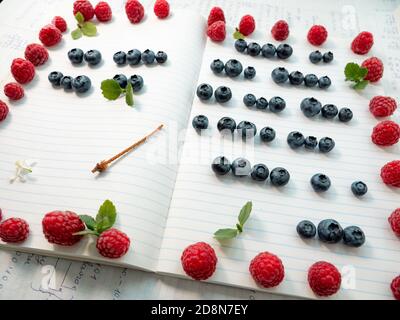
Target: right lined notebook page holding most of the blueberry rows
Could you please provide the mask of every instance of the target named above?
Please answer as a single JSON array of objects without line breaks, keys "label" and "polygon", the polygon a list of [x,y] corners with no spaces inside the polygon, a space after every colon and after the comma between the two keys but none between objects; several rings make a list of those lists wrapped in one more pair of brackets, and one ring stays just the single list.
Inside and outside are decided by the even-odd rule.
[{"label": "right lined notebook page holding most of the blueberry rows", "polygon": [[[399,190],[386,187],[379,173],[386,162],[399,158],[400,150],[399,146],[381,149],[370,141],[371,130],[378,121],[369,113],[368,102],[381,89],[370,86],[361,94],[348,88],[343,81],[344,66],[349,61],[361,61],[347,49],[348,43],[330,39],[321,50],[332,50],[335,60],[331,64],[312,65],[308,54],[315,49],[305,44],[304,37],[304,34],[290,37],[288,42],[293,44],[294,55],[288,61],[241,55],[234,50],[231,37],[223,47],[207,43],[199,83],[209,83],[214,89],[227,85],[232,89],[233,98],[226,105],[202,103],[197,97],[194,100],[191,119],[198,114],[206,115],[210,128],[203,136],[188,129],[159,270],[183,276],[182,250],[194,242],[206,241],[216,250],[219,259],[211,282],[261,290],[252,280],[248,266],[259,252],[270,251],[282,259],[286,273],[283,283],[270,292],[315,297],[308,287],[307,270],[314,262],[325,260],[334,263],[343,275],[342,290],[335,298],[390,299],[390,281],[399,273],[400,242],[391,232],[387,218],[399,206]],[[260,43],[271,41],[265,40],[262,34],[254,39]],[[244,67],[254,66],[257,76],[252,81],[244,80],[243,76],[237,79],[215,76],[209,65],[216,58],[223,61],[237,58]],[[328,75],[333,85],[327,91],[276,85],[270,74],[278,66],[304,74]],[[250,110],[242,102],[247,93],[268,100],[281,96],[287,108],[281,114]],[[320,116],[305,118],[300,102],[312,96],[322,104],[350,107],[354,112],[353,121],[344,124],[323,120]],[[216,126],[223,116],[233,117],[237,123],[252,121],[258,132],[271,126],[277,138],[264,144],[257,135],[253,149],[251,143],[243,144],[241,139],[235,138],[232,142],[221,138]],[[332,137],[336,148],[329,154],[293,151],[287,146],[286,137],[294,130],[319,138]],[[265,163],[270,170],[285,167],[291,180],[278,189],[269,181],[256,183],[250,178],[234,178],[231,174],[217,177],[210,164],[220,155],[231,161],[245,157],[253,165]],[[325,194],[315,193],[309,182],[311,176],[319,172],[332,180],[332,187]],[[354,197],[350,191],[355,180],[365,181],[369,187],[362,199]],[[223,245],[214,240],[213,233],[217,229],[234,227],[241,207],[249,200],[253,201],[253,212],[244,233]],[[327,218],[338,220],[343,227],[360,226],[366,233],[365,245],[358,249],[341,243],[325,245],[317,239],[303,241],[297,235],[296,225],[301,220],[308,219],[317,225]]]}]

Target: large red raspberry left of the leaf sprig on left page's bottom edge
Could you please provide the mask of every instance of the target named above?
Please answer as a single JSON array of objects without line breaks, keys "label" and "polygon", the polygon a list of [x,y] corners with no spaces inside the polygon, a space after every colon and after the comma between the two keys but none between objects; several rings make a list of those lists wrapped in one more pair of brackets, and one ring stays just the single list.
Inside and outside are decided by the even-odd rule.
[{"label": "large red raspberry left of the leaf sprig on left page's bottom edge", "polygon": [[43,233],[50,243],[61,246],[72,246],[81,240],[82,236],[74,233],[85,230],[85,225],[79,216],[71,211],[52,211],[42,220]]}]

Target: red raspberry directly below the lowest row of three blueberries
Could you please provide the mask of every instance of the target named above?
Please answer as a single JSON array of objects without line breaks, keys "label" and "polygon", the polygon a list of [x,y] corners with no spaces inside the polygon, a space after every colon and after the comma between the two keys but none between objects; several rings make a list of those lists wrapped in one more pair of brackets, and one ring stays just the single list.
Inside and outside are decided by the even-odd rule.
[{"label": "red raspberry directly below the lowest row of three blueberries", "polygon": [[312,291],[318,296],[327,297],[340,289],[342,276],[339,270],[331,263],[319,261],[308,270],[308,283]]}]

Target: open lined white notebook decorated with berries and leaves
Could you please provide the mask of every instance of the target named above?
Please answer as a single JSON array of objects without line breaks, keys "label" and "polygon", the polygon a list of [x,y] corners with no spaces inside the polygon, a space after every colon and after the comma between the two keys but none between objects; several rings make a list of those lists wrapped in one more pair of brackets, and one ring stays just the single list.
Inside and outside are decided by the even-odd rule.
[{"label": "open lined white notebook decorated with berries and leaves", "polygon": [[[69,16],[69,9],[66,6],[65,16]],[[335,298],[390,298],[389,283],[399,272],[400,247],[389,230],[387,216],[399,205],[399,192],[381,183],[379,170],[398,157],[399,148],[381,150],[369,141],[376,120],[369,114],[368,101],[380,88],[371,86],[361,95],[347,87],[343,66],[358,59],[340,41],[331,39],[325,45],[323,50],[334,51],[335,60],[322,67],[308,62],[312,48],[299,30],[289,41],[294,55],[288,61],[277,61],[237,53],[231,37],[223,45],[207,41],[201,36],[204,25],[204,19],[189,12],[174,12],[162,23],[148,16],[137,26],[130,25],[124,16],[116,16],[111,24],[99,26],[98,37],[73,41],[65,36],[61,46],[50,50],[51,61],[38,69],[28,86],[27,98],[11,105],[11,115],[0,126],[0,206],[6,216],[22,217],[31,226],[28,241],[19,246],[3,243],[1,247],[184,276],[182,250],[191,243],[206,241],[219,258],[211,282],[261,290],[251,279],[248,265],[257,253],[271,251],[283,260],[286,272],[283,283],[271,292],[314,297],[307,285],[307,269],[315,261],[327,260],[341,268],[344,276],[343,289]],[[36,31],[24,31],[32,34],[31,41],[36,39]],[[256,33],[253,39],[271,41],[262,33]],[[71,66],[66,52],[73,47],[100,49],[103,63],[96,68]],[[166,66],[115,66],[113,53],[132,48],[164,50],[169,61]],[[3,85],[11,79],[9,61],[15,51],[0,50]],[[217,77],[209,68],[215,58],[238,58],[244,66],[254,66],[257,76],[252,81]],[[333,85],[328,91],[277,86],[270,79],[271,70],[277,66],[326,74]],[[47,74],[53,70],[72,76],[87,74],[94,88],[85,98],[52,89]],[[145,88],[135,97],[135,108],[127,107],[123,100],[108,102],[102,97],[100,82],[116,73],[143,76]],[[202,82],[214,88],[229,86],[233,99],[224,106],[199,102],[194,93]],[[242,97],[250,92],[267,99],[282,96],[287,109],[279,115],[249,110]],[[354,120],[341,124],[306,119],[299,104],[309,96],[322,103],[350,106]],[[201,136],[191,127],[191,119],[198,114],[210,120],[210,128]],[[237,122],[252,121],[258,130],[271,126],[277,131],[277,139],[267,146],[256,137],[251,147],[240,139],[221,138],[216,123],[223,116]],[[166,128],[156,138],[107,173],[96,177],[90,172],[98,161],[161,123]],[[286,136],[293,130],[330,136],[337,146],[329,155],[292,151],[286,145]],[[283,166],[289,170],[291,181],[276,189],[249,179],[218,178],[210,163],[219,155],[231,160],[244,156],[252,164],[265,163],[270,169]],[[34,173],[26,183],[10,184],[14,162],[21,159],[37,160]],[[329,175],[333,183],[322,196],[309,184],[317,172]],[[363,199],[350,192],[351,182],[358,179],[369,186]],[[45,240],[41,231],[45,213],[59,209],[94,215],[105,199],[116,205],[117,227],[132,240],[125,257],[102,258],[90,238],[71,248],[53,246]],[[223,245],[214,240],[214,231],[234,225],[248,200],[253,201],[253,212],[245,232]],[[334,218],[342,226],[362,227],[366,244],[349,249],[341,244],[303,241],[297,236],[295,227],[300,220],[317,224],[324,218]]]}]

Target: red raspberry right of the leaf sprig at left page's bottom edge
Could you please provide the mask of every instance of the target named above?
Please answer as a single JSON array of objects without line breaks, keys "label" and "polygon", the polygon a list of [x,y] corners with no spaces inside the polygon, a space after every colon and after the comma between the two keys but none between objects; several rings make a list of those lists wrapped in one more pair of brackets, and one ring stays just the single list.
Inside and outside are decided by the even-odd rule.
[{"label": "red raspberry right of the leaf sprig at left page's bottom edge", "polygon": [[117,230],[108,229],[97,239],[96,248],[106,258],[121,258],[128,252],[131,241],[128,236]]}]

